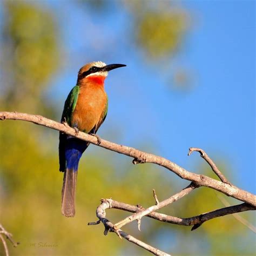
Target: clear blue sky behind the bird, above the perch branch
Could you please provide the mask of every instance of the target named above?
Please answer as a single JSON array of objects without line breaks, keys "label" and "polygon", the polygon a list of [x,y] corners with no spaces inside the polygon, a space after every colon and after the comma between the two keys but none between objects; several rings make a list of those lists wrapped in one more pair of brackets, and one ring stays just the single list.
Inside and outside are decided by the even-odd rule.
[{"label": "clear blue sky behind the bird, above the perch branch", "polygon": [[161,72],[161,63],[146,61],[129,37],[133,24],[126,9],[105,15],[72,2],[44,4],[55,11],[62,37],[63,64],[48,92],[57,96],[59,112],[80,66],[93,60],[127,64],[106,80],[109,112],[100,136],[150,148],[194,172],[202,160],[186,154],[188,147],[201,147],[214,160],[225,160],[231,182],[256,192],[254,1],[179,2],[192,25],[170,63],[192,71],[188,92],[170,89],[168,66]]}]

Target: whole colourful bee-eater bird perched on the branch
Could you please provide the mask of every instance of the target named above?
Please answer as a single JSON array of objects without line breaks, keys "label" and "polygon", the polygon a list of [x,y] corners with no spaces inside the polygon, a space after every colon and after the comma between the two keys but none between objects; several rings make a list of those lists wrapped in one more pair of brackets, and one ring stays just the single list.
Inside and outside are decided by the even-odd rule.
[{"label": "whole colourful bee-eater bird perched on the branch", "polygon": [[[107,95],[104,80],[108,72],[126,66],[91,62],[80,68],[76,86],[65,100],[61,122],[82,131],[96,135],[107,114]],[[75,216],[75,191],[79,160],[90,143],[59,133],[59,171],[64,172],[62,187],[62,214]]]}]

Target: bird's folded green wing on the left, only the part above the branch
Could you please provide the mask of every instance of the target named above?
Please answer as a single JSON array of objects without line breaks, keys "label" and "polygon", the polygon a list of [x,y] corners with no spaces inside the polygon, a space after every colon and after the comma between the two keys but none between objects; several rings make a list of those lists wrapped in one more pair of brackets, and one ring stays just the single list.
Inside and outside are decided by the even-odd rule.
[{"label": "bird's folded green wing on the left, only the part above the branch", "polygon": [[68,98],[66,98],[64,109],[62,113],[62,122],[64,121],[64,118],[66,119],[66,122],[71,125],[71,119],[72,119],[72,113],[75,110],[77,99],[79,95],[79,86],[76,85],[73,87],[73,89],[70,91]]}]

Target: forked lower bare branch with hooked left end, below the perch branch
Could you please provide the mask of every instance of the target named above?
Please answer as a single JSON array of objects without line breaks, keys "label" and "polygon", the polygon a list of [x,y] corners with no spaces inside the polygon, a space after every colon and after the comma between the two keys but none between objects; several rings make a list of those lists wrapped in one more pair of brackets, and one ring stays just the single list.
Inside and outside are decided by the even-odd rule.
[{"label": "forked lower bare branch with hooked left end, below the perch branch", "polygon": [[[196,230],[198,227],[200,227],[207,220],[211,220],[213,218],[218,218],[218,217],[228,215],[228,214],[234,214],[234,213],[238,213],[238,212],[255,210],[255,207],[243,203],[240,205],[234,205],[234,206],[230,206],[230,207],[220,208],[218,210],[203,213],[203,214],[191,217],[191,218],[178,218],[178,217],[173,217],[173,216],[162,214],[162,213],[153,212],[153,209],[159,210],[159,208],[161,208],[160,206],[169,205],[169,204],[173,203],[174,201],[179,200],[180,198],[184,197],[186,194],[190,193],[194,188],[196,188],[196,187],[194,187],[193,184],[190,184],[189,186],[184,188],[184,190],[180,191],[179,193],[175,194],[174,196],[172,196],[162,202],[156,203],[156,206],[158,206],[158,207],[151,206],[147,209],[144,209],[142,206],[133,206],[133,205],[125,204],[125,203],[120,203],[118,201],[114,201],[113,199],[102,199],[101,204],[97,207],[97,210],[96,210],[96,215],[99,220],[96,223],[88,223],[88,225],[97,225],[101,221],[105,226],[105,231],[104,231],[105,235],[108,233],[108,231],[115,232],[118,235],[118,237],[120,237],[120,238],[124,237],[126,240],[133,242],[133,244],[136,244],[155,255],[169,255],[165,252],[158,250],[157,248],[147,245],[144,242],[132,237],[131,235],[120,230],[119,227],[122,227],[122,226],[130,223],[133,220],[137,220],[137,221],[139,220],[138,228],[140,230],[140,220],[142,219],[143,216],[147,216],[147,217],[159,220],[159,221],[164,221],[166,223],[184,225],[184,226],[193,226],[191,228],[191,230],[193,231],[193,230]],[[155,193],[154,193],[154,195],[155,195]],[[110,209],[110,208],[116,208],[118,210],[133,212],[135,214],[133,214],[130,217],[127,217],[124,220],[119,221],[119,223],[113,225],[108,219],[106,219],[105,210]]]}]

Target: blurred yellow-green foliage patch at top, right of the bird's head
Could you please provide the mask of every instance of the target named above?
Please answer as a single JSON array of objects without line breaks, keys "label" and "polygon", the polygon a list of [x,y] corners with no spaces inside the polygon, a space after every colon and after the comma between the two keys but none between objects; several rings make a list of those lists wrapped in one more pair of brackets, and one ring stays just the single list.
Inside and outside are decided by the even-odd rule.
[{"label": "blurred yellow-green foliage patch at top, right of the bird's head", "polygon": [[177,53],[188,29],[188,14],[169,1],[125,1],[135,19],[134,37],[147,58],[167,59]]}]

